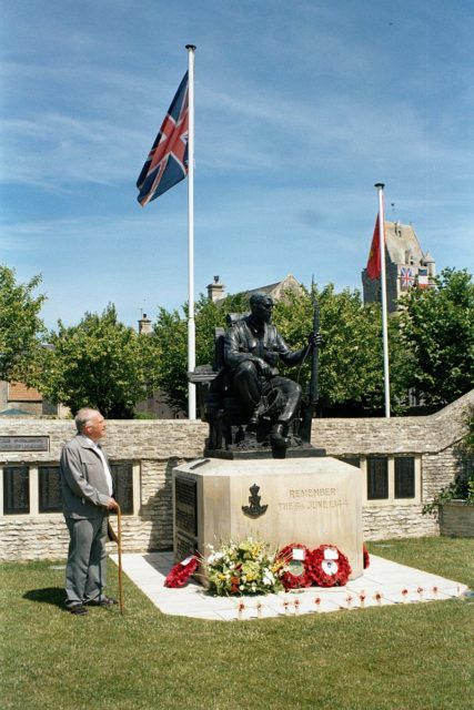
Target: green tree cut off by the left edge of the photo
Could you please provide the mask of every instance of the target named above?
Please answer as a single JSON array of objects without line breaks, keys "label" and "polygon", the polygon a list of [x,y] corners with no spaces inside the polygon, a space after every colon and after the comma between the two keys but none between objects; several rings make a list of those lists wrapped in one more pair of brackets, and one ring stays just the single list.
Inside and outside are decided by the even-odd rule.
[{"label": "green tree cut off by the left edge of the photo", "polygon": [[0,379],[36,384],[46,328],[39,313],[44,295],[34,296],[41,276],[16,281],[14,270],[0,266]]}]

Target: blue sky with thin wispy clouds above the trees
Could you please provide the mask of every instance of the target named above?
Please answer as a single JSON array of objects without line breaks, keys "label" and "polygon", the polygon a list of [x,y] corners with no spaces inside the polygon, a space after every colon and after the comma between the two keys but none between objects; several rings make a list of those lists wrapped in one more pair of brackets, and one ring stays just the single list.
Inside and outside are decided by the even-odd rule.
[{"label": "blue sky with thin wispy clouds above the trees", "polygon": [[195,52],[195,293],[361,287],[384,182],[438,270],[473,271],[474,6],[2,0],[0,261],[50,327],[188,297],[183,181],[135,181]]}]

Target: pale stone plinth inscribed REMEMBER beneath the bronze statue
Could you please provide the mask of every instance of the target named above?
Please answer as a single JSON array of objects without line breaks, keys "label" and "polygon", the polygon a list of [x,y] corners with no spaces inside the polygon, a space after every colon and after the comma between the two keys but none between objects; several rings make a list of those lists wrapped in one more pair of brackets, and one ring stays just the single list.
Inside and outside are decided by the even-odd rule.
[{"label": "pale stone plinth inscribed REMEMBER beneath the bronze statue", "polygon": [[351,579],[362,575],[362,479],[354,466],[331,457],[263,460],[198,459],[173,470],[174,551],[248,536],[281,548],[339,547]]}]

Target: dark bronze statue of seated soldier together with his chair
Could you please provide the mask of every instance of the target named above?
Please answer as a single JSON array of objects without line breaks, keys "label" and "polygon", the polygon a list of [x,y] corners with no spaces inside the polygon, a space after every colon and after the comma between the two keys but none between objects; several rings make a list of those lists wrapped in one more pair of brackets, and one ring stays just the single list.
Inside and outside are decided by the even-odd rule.
[{"label": "dark bronze statue of seated soldier together with his chair", "polygon": [[[256,293],[251,313],[230,315],[230,327],[215,342],[213,375],[204,405],[210,423],[208,450],[272,447],[284,450],[295,443],[301,416],[301,386],[279,374],[276,365],[300,365],[321,336],[311,333],[307,345],[292,352],[272,324],[273,300]],[[198,371],[204,368],[196,368]],[[208,368],[208,374],[209,368]],[[191,377],[204,382],[205,375]]]}]

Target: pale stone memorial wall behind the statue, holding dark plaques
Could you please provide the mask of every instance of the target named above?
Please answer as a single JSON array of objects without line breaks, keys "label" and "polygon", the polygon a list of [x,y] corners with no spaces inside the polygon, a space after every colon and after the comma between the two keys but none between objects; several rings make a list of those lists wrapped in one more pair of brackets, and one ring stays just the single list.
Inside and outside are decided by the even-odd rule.
[{"label": "pale stone memorial wall behind the statue, holding dark plaques", "polygon": [[[329,456],[406,454],[420,458],[421,499],[410,505],[367,503],[363,511],[365,539],[438,534],[437,520],[422,516],[421,510],[458,470],[456,447],[465,434],[464,412],[473,404],[474,390],[432,416],[314,422],[313,444],[324,447]],[[124,551],[171,548],[171,471],[178,464],[202,455],[206,432],[201,422],[178,419],[108,423],[104,448],[109,458],[133,462],[139,471],[134,514],[122,517]],[[63,444],[74,434],[71,420],[1,420],[0,436],[47,436],[49,450],[0,452],[0,470],[20,463],[32,467],[58,464]],[[0,507],[0,559],[63,558],[67,547],[61,514],[3,515]]]}]

